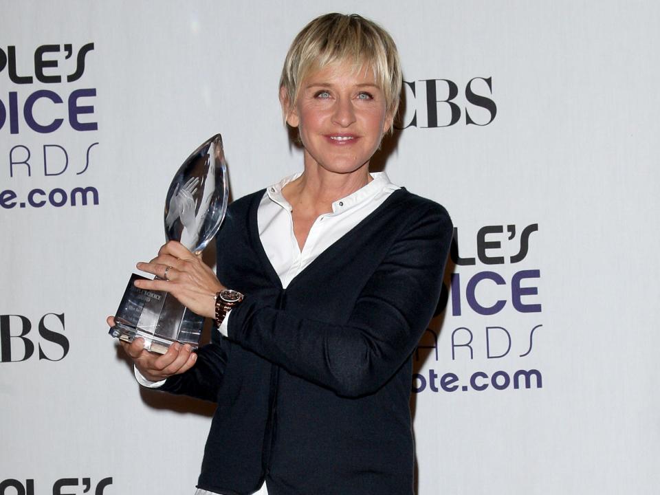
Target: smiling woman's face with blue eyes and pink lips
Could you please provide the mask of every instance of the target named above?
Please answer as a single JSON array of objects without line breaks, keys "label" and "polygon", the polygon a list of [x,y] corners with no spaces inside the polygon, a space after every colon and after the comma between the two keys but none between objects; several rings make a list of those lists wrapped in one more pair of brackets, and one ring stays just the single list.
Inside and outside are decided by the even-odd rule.
[{"label": "smiling woman's face with blue eyes and pink lips", "polygon": [[392,124],[373,70],[347,62],[328,65],[300,84],[287,122],[298,127],[305,146],[305,169],[333,173],[369,170],[369,160]]}]

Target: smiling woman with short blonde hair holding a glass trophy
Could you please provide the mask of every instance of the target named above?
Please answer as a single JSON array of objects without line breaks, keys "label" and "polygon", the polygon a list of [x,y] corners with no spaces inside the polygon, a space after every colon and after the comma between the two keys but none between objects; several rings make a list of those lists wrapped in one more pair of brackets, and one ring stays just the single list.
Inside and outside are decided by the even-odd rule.
[{"label": "smiling woman with short blonde hair holding a glass trophy", "polygon": [[142,384],[217,401],[199,493],[250,494],[265,480],[270,495],[412,494],[410,355],[437,305],[452,224],[369,173],[400,88],[382,28],[357,15],[311,21],[280,88],[303,173],[232,203],[217,278],[176,242],[137,265],[167,279],[138,287],[219,325],[197,353],[122,342]]}]

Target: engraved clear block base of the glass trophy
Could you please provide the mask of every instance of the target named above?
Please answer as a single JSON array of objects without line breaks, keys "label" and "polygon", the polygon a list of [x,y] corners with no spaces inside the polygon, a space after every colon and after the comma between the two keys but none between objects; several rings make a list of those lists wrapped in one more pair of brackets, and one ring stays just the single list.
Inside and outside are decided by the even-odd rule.
[{"label": "engraved clear block base of the glass trophy", "polygon": [[203,316],[193,313],[166,292],[138,289],[134,284],[138,279],[148,280],[131,275],[110,335],[124,342],[142,337],[144,349],[159,354],[166,353],[175,342],[197,349],[204,325]]}]

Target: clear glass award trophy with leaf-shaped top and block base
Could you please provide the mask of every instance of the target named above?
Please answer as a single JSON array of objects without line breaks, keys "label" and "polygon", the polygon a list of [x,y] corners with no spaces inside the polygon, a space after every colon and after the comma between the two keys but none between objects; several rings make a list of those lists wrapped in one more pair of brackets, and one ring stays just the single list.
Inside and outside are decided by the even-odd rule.
[{"label": "clear glass award trophy with leaf-shaped top and block base", "polygon": [[[186,159],[167,192],[165,236],[194,254],[206,248],[218,232],[227,210],[229,186],[222,137],[217,134]],[[174,342],[197,349],[203,316],[166,292],[138,289],[133,274],[115,314],[110,335],[126,342],[144,338],[144,349],[164,354]]]}]

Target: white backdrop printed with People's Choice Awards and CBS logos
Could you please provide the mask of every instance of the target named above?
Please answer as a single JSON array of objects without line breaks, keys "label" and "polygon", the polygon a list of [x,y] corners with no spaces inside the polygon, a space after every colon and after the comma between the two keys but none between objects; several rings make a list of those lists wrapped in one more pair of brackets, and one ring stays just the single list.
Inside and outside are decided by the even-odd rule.
[{"label": "white backdrop printed with People's Choice Awards and CBS logos", "polygon": [[656,4],[67,0],[1,3],[0,495],[192,493],[212,405],[140,390],[104,320],[203,140],[234,198],[300,170],[278,76],[329,11],[393,34],[375,168],[456,225],[418,493],[657,493]]}]

